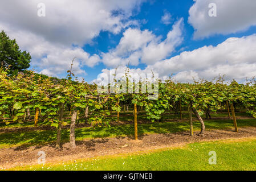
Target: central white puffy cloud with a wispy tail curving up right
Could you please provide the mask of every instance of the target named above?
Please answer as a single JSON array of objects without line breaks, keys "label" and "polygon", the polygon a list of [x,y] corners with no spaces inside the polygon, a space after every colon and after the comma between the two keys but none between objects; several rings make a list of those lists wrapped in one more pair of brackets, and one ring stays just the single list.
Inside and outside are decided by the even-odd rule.
[{"label": "central white puffy cloud with a wispy tail curving up right", "polygon": [[141,31],[137,28],[128,28],[116,48],[107,53],[102,53],[103,63],[108,67],[116,67],[130,63],[147,65],[161,61],[175,50],[182,43],[182,30],[184,27],[183,18],[173,24],[166,36],[161,41],[161,36],[156,36],[151,31]]}]

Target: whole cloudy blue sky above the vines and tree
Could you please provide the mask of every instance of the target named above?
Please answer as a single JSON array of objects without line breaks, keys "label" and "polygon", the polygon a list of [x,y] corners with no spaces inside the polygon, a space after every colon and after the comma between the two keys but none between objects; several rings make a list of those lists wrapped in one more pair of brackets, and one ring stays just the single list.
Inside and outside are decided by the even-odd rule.
[{"label": "whole cloudy blue sky above the vines and tree", "polygon": [[255,10],[255,0],[1,0],[0,28],[50,76],[65,77],[76,57],[87,82],[128,63],[183,82],[243,81],[256,76]]}]

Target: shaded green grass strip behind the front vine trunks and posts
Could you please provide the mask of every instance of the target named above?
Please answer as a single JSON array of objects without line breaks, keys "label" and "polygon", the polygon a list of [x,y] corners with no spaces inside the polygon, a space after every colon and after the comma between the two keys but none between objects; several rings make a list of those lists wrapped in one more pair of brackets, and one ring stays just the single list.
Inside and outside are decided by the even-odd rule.
[{"label": "shaded green grass strip behind the front vine trunks and posts", "polygon": [[[237,119],[238,127],[256,127],[256,119]],[[200,123],[193,123],[194,130],[200,130]],[[206,120],[206,129],[231,129],[233,121],[224,120]],[[62,130],[62,139],[67,142],[69,139],[69,129]],[[155,122],[138,125],[138,133],[142,134],[160,134],[160,133],[177,133],[180,131],[189,131],[188,122]],[[133,136],[133,125],[121,125],[112,127],[92,127],[79,128],[75,130],[76,140],[105,138],[105,137],[122,137]],[[13,132],[0,134],[0,148],[25,145],[38,145],[55,142],[56,130],[36,130],[26,132]]]}]

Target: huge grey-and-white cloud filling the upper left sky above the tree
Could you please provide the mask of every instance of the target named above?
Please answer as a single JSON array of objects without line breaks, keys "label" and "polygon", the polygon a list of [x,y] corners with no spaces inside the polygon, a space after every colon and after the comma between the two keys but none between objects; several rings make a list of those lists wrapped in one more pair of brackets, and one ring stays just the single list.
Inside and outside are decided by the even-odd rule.
[{"label": "huge grey-and-white cloud filling the upper left sky above the tree", "polygon": [[[90,55],[81,47],[90,43],[100,31],[119,33],[137,24],[129,20],[132,11],[144,0],[2,0],[0,28],[32,56],[32,68],[57,76],[70,68],[74,57],[76,74],[86,74],[82,67],[94,67],[98,55]],[[38,3],[46,5],[46,16],[39,17]],[[76,46],[74,46],[76,45]]]}]

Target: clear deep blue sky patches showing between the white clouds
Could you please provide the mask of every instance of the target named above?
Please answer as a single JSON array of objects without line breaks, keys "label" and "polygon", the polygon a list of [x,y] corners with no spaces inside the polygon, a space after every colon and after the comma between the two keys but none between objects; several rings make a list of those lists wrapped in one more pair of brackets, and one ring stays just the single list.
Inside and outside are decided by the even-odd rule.
[{"label": "clear deep blue sky patches showing between the white clouds", "polygon": [[[198,41],[190,42],[192,35],[193,35],[193,27],[190,26],[190,24],[187,23],[188,21],[188,11],[189,8],[193,5],[193,1],[190,0],[184,0],[182,2],[180,1],[149,1],[146,3],[143,3],[141,5],[140,11],[136,12],[134,16],[131,17],[131,19],[140,20],[143,22],[145,20],[145,23],[140,24],[141,30],[150,30],[153,31],[154,34],[158,36],[163,36],[163,39],[166,37],[166,34],[172,28],[172,24],[174,23],[174,20],[177,20],[178,18],[184,17],[184,23],[185,23],[185,36],[186,40],[183,43],[183,46],[188,47],[186,49],[194,49],[200,46],[200,44],[197,46]],[[164,15],[164,11],[168,11],[172,15],[172,23],[166,25],[161,22],[161,17]],[[96,44],[87,44],[83,48],[85,51],[90,53],[98,53],[99,50],[103,52],[108,52],[109,49],[114,48],[119,43],[119,40],[123,36],[123,32],[120,32],[118,35],[109,34],[107,31],[100,32],[99,36],[94,39],[94,42]],[[200,41],[201,42],[201,41]],[[216,41],[213,42],[214,43]],[[189,43],[189,44],[187,44]],[[194,45],[193,45],[194,44]],[[204,43],[201,45],[205,46]],[[173,55],[177,55],[178,52],[173,53]],[[170,56],[169,56],[170,57]],[[140,64],[136,68],[145,68],[145,64]],[[97,65],[95,68],[90,69],[89,67],[85,67],[84,69],[87,70],[88,75],[85,76],[87,80],[94,80],[95,77],[101,72],[101,69],[104,69],[105,66],[103,63]]]}]

